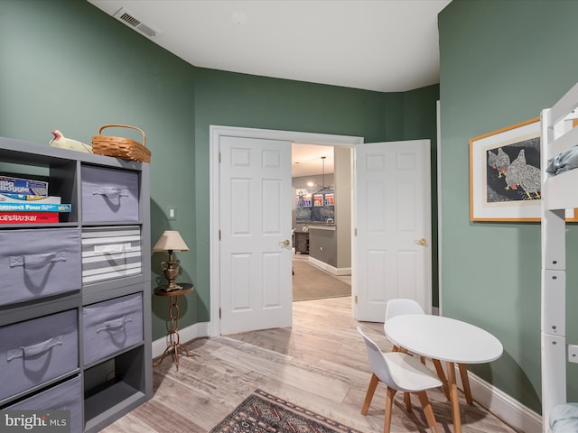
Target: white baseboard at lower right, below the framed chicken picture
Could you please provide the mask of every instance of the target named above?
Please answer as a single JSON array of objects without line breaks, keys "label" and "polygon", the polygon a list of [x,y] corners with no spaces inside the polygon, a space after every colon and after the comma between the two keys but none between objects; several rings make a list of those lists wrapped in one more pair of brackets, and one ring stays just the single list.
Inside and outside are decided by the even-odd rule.
[{"label": "white baseboard at lower right, below the framed chicken picture", "polygon": [[[460,377],[456,365],[456,376]],[[474,401],[522,433],[542,433],[542,417],[507,393],[468,372]]]}]

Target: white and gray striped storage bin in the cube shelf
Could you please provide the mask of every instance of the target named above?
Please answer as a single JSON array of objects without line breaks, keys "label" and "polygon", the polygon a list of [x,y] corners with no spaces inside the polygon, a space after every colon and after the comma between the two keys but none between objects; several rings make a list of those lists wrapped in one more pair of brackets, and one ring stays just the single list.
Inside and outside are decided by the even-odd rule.
[{"label": "white and gray striped storage bin in the cube shelf", "polygon": [[140,275],[140,226],[84,227],[82,229],[82,284]]}]

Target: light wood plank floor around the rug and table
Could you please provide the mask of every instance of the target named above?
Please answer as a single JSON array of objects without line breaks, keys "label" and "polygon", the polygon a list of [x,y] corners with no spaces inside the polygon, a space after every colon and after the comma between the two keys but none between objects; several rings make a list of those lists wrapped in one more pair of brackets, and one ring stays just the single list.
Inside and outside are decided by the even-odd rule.
[{"label": "light wood plank floor around the rug and table", "polygon": [[[182,357],[179,372],[172,359],[165,358],[154,367],[154,398],[103,431],[208,432],[260,388],[351,428],[381,432],[386,400],[383,384],[378,386],[368,416],[359,413],[370,373],[350,302],[349,297],[294,302],[292,328],[191,342],[187,346],[199,356]],[[382,350],[391,349],[382,324],[361,326]],[[433,369],[431,363],[428,366]],[[434,390],[428,396],[438,428],[451,432],[451,411],[443,392]],[[477,404],[468,406],[462,397],[464,433],[515,431]],[[408,413],[401,393],[396,394],[392,432],[429,431],[419,401],[416,397],[412,401],[414,410]]]}]

